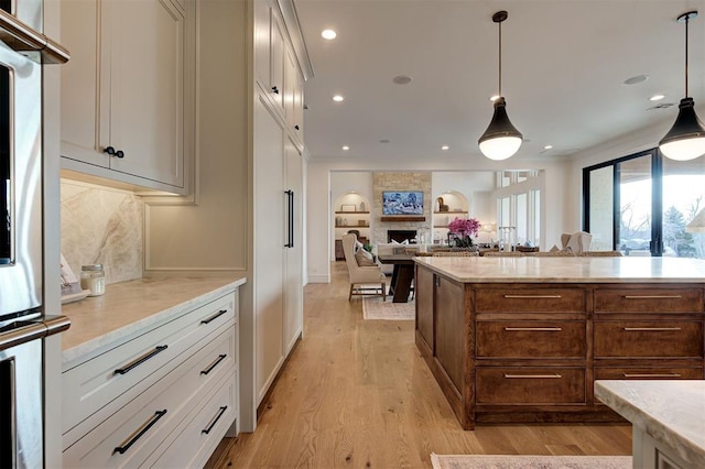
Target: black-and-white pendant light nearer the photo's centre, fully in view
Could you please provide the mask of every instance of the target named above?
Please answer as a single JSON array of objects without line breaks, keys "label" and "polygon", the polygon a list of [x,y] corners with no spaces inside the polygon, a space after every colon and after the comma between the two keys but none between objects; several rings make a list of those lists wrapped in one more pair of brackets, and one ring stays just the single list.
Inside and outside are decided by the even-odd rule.
[{"label": "black-and-white pendant light nearer the photo's centre, fully in view", "polygon": [[517,153],[522,142],[521,132],[507,116],[507,101],[502,96],[502,22],[508,17],[506,11],[498,11],[492,15],[492,21],[499,24],[499,97],[495,99],[492,120],[477,142],[485,156],[497,161],[507,160]]}]

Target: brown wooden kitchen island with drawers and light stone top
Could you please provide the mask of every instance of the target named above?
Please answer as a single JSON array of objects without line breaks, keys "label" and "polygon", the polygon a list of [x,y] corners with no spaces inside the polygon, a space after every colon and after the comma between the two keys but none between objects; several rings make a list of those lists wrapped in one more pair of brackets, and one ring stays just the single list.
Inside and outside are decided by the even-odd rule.
[{"label": "brown wooden kitchen island with drawers and light stone top", "polygon": [[465,429],[620,421],[595,380],[705,378],[705,261],[414,260],[416,346]]}]

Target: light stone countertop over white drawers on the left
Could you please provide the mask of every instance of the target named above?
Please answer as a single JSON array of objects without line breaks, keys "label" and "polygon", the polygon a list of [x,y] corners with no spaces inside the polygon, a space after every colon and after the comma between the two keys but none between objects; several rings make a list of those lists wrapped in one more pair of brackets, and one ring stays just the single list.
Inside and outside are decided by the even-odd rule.
[{"label": "light stone countertop over white drawers on the left", "polygon": [[102,296],[63,305],[62,314],[70,319],[62,337],[63,363],[216,299],[245,281],[245,275],[139,279],[107,285]]}]

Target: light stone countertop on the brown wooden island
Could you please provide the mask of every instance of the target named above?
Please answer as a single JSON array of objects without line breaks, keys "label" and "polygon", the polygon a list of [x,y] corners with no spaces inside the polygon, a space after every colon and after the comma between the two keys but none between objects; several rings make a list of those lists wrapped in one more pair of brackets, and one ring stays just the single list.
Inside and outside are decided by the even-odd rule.
[{"label": "light stone countertop on the brown wooden island", "polygon": [[414,258],[463,283],[705,283],[705,260],[680,258]]}]

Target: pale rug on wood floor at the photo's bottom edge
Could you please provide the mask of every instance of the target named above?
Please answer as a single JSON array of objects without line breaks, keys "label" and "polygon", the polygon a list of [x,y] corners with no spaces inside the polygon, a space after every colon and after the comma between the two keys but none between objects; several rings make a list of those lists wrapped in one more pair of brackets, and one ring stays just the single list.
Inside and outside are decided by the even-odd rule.
[{"label": "pale rug on wood floor at the photo's bottom edge", "polygon": [[631,456],[496,456],[431,454],[434,469],[631,469]]}]

